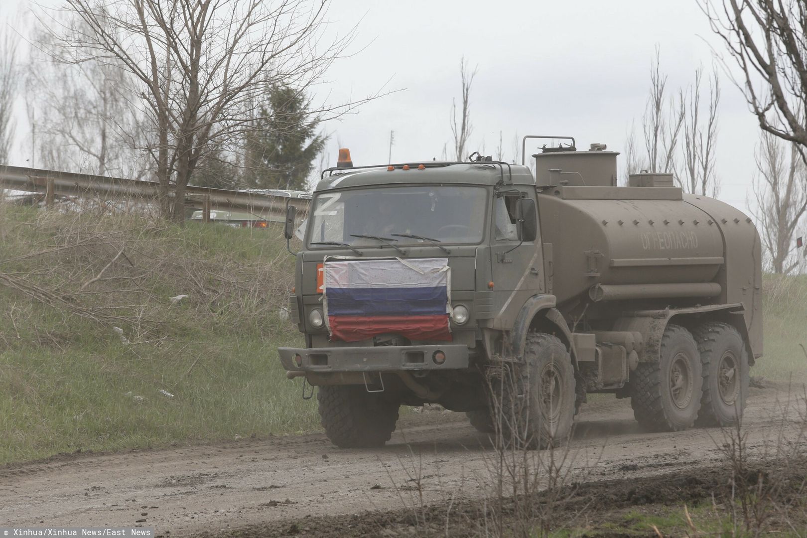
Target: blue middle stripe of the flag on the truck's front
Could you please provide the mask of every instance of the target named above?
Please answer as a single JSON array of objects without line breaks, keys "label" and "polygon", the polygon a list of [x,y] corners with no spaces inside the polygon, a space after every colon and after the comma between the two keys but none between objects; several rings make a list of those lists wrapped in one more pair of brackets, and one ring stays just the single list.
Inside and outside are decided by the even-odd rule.
[{"label": "blue middle stripe of the flag on the truck's front", "polygon": [[422,288],[327,288],[328,315],[445,314],[445,286]]}]

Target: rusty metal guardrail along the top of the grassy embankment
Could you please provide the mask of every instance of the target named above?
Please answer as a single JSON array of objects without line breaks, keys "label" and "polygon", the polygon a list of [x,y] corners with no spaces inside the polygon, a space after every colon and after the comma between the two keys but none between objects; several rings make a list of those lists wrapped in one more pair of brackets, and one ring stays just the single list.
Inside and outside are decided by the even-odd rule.
[{"label": "rusty metal guardrail along the top of the grassy embankment", "polygon": [[[56,194],[156,201],[159,187],[157,181],[0,166],[0,188],[43,193],[45,205],[52,204]],[[186,186],[185,202],[187,206],[197,207],[208,215],[211,209],[229,209],[249,211],[255,215],[282,216],[286,215],[286,207],[290,204],[297,207],[298,211],[307,211],[309,201],[307,198],[290,198],[277,194]]]}]

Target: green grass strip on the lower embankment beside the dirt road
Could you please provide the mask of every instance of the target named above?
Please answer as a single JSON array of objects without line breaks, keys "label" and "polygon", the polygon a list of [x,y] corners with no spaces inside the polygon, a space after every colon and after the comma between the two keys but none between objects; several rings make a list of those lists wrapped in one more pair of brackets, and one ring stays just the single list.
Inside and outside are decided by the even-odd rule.
[{"label": "green grass strip on the lower embankment beside the dirt road", "polygon": [[316,407],[279,365],[280,344],[299,340],[214,336],[161,349],[101,341],[4,352],[0,462],[316,430]]}]

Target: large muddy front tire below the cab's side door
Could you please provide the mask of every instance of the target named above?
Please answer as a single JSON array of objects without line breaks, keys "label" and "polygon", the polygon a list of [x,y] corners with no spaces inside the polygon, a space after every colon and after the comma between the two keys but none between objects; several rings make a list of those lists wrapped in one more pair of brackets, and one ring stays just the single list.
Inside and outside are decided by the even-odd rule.
[{"label": "large muddy front tire below the cab's side door", "polygon": [[566,346],[541,332],[527,335],[524,365],[504,370],[497,406],[499,440],[514,448],[548,448],[568,439],[575,419],[575,369]]}]

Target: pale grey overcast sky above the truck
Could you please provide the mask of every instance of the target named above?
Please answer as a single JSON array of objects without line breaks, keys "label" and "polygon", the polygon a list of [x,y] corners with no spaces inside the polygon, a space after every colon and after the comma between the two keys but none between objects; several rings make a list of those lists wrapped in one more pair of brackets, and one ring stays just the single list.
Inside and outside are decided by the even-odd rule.
[{"label": "pale grey overcast sky above the truck", "polygon": [[[55,6],[59,0],[40,4]],[[0,22],[16,19],[28,5],[0,0]],[[720,46],[695,0],[334,0],[329,19],[333,28],[345,30],[358,23],[356,54],[334,65],[320,97],[328,93],[339,102],[382,87],[400,90],[324,125],[331,134],[330,160],[336,161],[341,143],[355,165],[386,163],[390,131],[395,131],[393,161],[440,159],[444,144],[453,158],[449,114],[452,98],[461,92],[462,56],[478,68],[468,149],[495,153],[501,132],[510,160],[516,134],[575,136],[579,148],[599,142],[622,151],[635,122],[641,142],[654,48],[660,48],[670,89],[677,90],[692,82],[698,65],[711,68],[711,46]],[[721,83],[720,198],[745,209],[759,129],[724,73]],[[28,158],[23,116],[13,165],[25,165]]]}]

